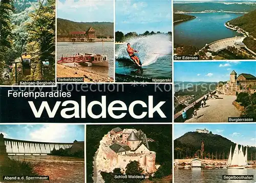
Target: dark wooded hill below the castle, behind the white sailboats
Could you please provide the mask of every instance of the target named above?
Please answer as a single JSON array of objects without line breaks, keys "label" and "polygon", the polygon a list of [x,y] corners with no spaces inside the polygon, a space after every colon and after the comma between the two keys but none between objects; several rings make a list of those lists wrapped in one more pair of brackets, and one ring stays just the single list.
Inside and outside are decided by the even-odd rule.
[{"label": "dark wooded hill below the castle, behind the white sailboats", "polygon": [[[189,156],[190,158],[192,158],[196,153],[199,156],[201,154],[202,141],[204,142],[203,157],[209,153],[210,158],[213,154],[214,159],[227,159],[227,155],[230,151],[230,146],[232,146],[232,152],[234,147],[236,146],[236,144],[229,139],[222,137],[221,135],[212,134],[211,132],[209,134],[187,132],[183,136],[174,140],[174,158],[185,159]],[[248,160],[251,159],[251,156],[253,160],[256,160],[255,155],[256,147],[248,147]]]}]

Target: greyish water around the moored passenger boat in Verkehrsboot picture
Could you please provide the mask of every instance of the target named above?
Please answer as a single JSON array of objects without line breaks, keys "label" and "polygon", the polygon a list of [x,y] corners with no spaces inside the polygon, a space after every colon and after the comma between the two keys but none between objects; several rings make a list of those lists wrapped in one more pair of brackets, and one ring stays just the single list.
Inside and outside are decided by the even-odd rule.
[{"label": "greyish water around the moored passenger boat in Verkehrsboot picture", "polygon": [[[104,55],[108,56],[109,68],[108,67],[83,67],[79,65],[81,70],[93,71],[101,73],[102,75],[109,75],[114,77],[114,42],[104,42]],[[61,56],[73,56],[76,54],[92,53],[92,54],[103,54],[102,42],[92,43],[72,43],[72,42],[58,42],[57,43],[57,60],[60,60]],[[67,64],[73,66],[74,64]]]}]

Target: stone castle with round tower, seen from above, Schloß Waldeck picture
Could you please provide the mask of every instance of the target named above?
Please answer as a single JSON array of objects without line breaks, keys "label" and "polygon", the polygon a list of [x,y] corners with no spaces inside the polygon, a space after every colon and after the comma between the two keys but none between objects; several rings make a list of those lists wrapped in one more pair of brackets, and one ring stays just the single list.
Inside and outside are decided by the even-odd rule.
[{"label": "stone castle with round tower, seen from above, Schlo\u00df Waldeck picture", "polygon": [[150,150],[141,129],[113,128],[100,141],[96,154],[97,169],[101,171],[111,172],[121,168],[125,172],[126,165],[132,161],[139,162],[144,173],[156,171],[156,152]]}]

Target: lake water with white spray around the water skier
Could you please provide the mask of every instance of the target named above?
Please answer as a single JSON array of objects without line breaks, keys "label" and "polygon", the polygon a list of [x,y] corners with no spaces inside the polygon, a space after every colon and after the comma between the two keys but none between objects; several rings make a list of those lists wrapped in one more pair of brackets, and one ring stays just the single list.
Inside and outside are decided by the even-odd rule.
[{"label": "lake water with white spray around the water skier", "polygon": [[170,35],[156,34],[126,40],[138,53],[142,70],[127,54],[126,44],[116,45],[115,73],[117,82],[152,82],[172,79],[172,41]]}]

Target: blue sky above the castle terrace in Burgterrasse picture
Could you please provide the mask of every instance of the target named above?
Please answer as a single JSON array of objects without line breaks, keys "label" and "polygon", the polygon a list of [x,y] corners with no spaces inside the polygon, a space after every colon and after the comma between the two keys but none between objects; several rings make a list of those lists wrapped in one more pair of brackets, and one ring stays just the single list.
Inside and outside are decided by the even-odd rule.
[{"label": "blue sky above the castle terrace in Burgterrasse picture", "polygon": [[229,74],[235,70],[256,76],[256,62],[175,62],[175,82],[219,82],[229,81]]}]

